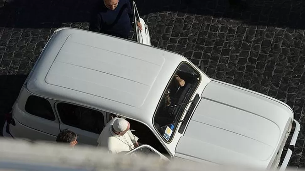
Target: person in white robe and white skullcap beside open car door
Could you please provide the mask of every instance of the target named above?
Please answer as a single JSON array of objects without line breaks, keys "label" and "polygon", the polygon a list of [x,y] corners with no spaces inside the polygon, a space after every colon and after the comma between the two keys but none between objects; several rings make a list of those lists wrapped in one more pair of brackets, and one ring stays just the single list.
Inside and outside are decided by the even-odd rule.
[{"label": "person in white robe and white skullcap beside open car door", "polygon": [[107,148],[111,153],[128,152],[138,147],[138,137],[129,130],[130,124],[123,118],[114,117],[107,123],[97,139],[97,147]]}]

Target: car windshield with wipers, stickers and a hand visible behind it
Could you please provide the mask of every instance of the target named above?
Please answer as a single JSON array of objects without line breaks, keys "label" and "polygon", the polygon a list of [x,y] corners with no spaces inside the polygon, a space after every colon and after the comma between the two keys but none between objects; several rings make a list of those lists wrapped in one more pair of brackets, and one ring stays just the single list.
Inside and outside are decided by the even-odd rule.
[{"label": "car windshield with wipers, stickers and a hand visible behind it", "polygon": [[155,128],[165,141],[171,141],[199,82],[200,74],[187,63],[181,63],[169,81],[153,118]]}]

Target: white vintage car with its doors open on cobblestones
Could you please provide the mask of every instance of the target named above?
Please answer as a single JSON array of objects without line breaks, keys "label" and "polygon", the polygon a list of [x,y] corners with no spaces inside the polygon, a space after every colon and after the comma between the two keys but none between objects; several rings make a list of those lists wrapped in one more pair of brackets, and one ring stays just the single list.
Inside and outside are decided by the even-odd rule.
[{"label": "white vintage car with its doors open on cobblestones", "polygon": [[26,79],[3,134],[55,141],[69,128],[79,143],[96,145],[111,113],[126,117],[139,142],[169,158],[263,169],[277,168],[293,122],[291,148],[300,130],[285,103],[211,79],[180,54],[60,28]]}]

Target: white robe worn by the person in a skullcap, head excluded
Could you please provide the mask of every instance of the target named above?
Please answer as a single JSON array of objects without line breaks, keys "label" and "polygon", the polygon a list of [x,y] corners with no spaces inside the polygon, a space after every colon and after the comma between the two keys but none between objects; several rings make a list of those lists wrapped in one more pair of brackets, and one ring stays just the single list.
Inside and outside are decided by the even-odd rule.
[{"label": "white robe worn by the person in a skullcap, head excluded", "polygon": [[138,137],[134,136],[131,131],[127,131],[124,135],[120,136],[112,131],[112,125],[115,117],[109,121],[97,139],[97,147],[107,148],[111,153],[120,153],[122,151],[130,151],[135,148],[133,145],[138,141]]}]

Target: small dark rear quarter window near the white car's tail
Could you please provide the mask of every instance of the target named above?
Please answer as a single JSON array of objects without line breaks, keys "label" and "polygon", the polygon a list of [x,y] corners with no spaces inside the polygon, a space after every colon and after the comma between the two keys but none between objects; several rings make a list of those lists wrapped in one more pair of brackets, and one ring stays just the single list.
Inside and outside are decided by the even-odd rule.
[{"label": "small dark rear quarter window near the white car's tail", "polygon": [[31,115],[55,121],[55,115],[50,102],[42,97],[29,96],[25,102],[25,111]]}]

